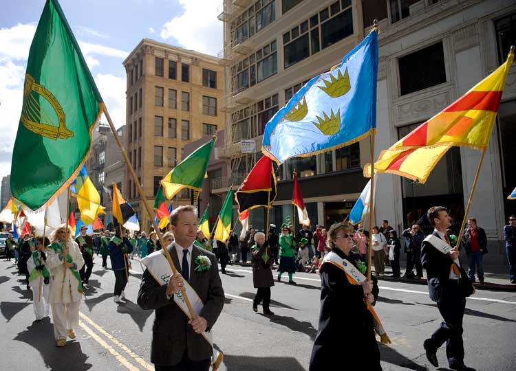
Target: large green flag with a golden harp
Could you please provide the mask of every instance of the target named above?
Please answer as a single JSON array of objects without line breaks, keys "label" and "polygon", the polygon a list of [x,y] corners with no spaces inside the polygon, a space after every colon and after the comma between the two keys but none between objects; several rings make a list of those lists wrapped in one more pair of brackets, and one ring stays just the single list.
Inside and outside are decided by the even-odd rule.
[{"label": "large green flag with a golden harp", "polygon": [[47,0],[30,53],[12,153],[12,196],[32,210],[76,178],[103,100],[57,0]]}]

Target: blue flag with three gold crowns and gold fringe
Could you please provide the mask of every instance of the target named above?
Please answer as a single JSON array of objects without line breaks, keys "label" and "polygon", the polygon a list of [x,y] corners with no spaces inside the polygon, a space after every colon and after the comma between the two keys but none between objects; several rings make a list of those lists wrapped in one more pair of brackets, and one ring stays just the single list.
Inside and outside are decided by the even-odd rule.
[{"label": "blue flag with three gold crowns and gold fringe", "polygon": [[267,123],[262,151],[283,163],[349,146],[376,128],[378,31],[332,71],[312,78]]}]

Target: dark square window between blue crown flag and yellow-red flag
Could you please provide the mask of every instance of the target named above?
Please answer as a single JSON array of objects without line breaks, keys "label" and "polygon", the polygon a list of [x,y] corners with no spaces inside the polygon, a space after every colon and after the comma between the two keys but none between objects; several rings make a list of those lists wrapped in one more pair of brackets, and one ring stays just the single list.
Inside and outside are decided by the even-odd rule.
[{"label": "dark square window between blue crown flag and yellow-red flag", "polygon": [[398,59],[400,95],[446,82],[442,42]]}]

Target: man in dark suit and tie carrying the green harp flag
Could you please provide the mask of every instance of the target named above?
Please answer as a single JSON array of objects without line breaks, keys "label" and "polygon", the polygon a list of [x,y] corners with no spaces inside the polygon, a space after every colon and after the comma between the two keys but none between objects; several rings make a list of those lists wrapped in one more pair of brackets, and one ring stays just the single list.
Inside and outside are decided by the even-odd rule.
[{"label": "man in dark suit and tie carrying the green harp flag", "polygon": [[[155,310],[151,361],[156,371],[208,371],[213,350],[201,334],[213,328],[224,306],[217,259],[215,254],[201,251],[193,245],[197,235],[195,207],[175,209],[171,215],[171,230],[175,241],[166,249],[182,274],[177,272],[168,284],[160,284],[146,269],[138,292],[138,305],[143,309]],[[162,253],[156,251],[154,254]],[[199,256],[209,258],[209,269],[193,267]],[[174,293],[184,290],[184,280],[189,282],[204,303],[199,315],[191,320],[174,302]]]}]

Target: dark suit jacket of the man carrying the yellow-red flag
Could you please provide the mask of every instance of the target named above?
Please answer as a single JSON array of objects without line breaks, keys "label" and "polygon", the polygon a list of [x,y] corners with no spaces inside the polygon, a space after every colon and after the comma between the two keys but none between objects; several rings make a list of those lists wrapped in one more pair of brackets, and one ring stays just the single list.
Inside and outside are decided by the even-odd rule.
[{"label": "dark suit jacket of the man carrying the yellow-red flag", "polygon": [[[433,236],[440,238],[436,231]],[[447,286],[450,280],[450,269],[453,260],[449,254],[442,254],[441,251],[433,247],[428,241],[423,241],[421,249],[421,262],[424,269],[427,269],[428,292],[430,299],[437,302],[440,297],[440,291]],[[460,267],[460,278],[462,282],[470,283],[466,271]]]}]

